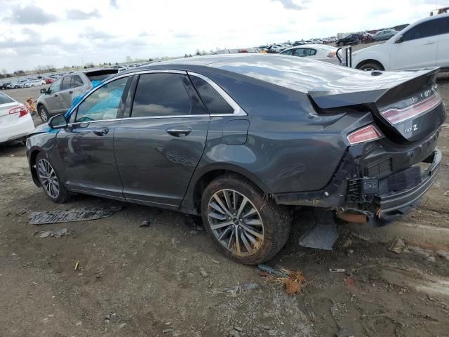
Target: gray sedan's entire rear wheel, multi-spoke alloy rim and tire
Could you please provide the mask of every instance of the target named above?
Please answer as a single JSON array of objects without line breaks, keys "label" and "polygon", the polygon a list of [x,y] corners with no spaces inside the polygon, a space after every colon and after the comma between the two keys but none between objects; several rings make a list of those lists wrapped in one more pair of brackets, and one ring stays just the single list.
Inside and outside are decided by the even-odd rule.
[{"label": "gray sedan's entire rear wheel, multi-spoke alloy rim and tire", "polygon": [[288,210],[236,175],[216,178],[206,187],[201,215],[220,251],[239,263],[272,258],[290,233]]}]

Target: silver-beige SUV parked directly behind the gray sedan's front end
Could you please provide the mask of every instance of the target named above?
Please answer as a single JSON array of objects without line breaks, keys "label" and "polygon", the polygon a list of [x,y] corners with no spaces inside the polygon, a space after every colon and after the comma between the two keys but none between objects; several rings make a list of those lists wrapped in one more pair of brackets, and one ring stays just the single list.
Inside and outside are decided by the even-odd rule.
[{"label": "silver-beige SUV parked directly behind the gray sedan's front end", "polygon": [[74,98],[91,90],[93,81],[102,81],[116,73],[116,69],[104,69],[73,72],[60,77],[48,89],[41,89],[42,95],[36,102],[39,117],[46,122],[52,115],[67,112]]}]

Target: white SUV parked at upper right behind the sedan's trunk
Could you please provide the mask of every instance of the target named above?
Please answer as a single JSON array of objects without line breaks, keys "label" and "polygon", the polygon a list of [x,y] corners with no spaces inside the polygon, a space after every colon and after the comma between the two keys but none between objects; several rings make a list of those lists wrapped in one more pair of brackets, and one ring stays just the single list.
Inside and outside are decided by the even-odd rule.
[{"label": "white SUV parked at upper right behind the sedan's trunk", "polygon": [[441,67],[441,71],[449,71],[449,14],[417,21],[384,44],[352,53],[352,67],[360,70]]}]

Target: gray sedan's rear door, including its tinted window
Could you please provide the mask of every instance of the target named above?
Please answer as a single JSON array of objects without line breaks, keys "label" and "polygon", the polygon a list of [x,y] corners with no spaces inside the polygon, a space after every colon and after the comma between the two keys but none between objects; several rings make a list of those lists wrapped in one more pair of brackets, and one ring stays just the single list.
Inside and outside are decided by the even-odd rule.
[{"label": "gray sedan's rear door, including its tinted window", "polygon": [[130,117],[114,137],[123,196],[179,206],[203,154],[210,117],[186,72],[138,76]]}]

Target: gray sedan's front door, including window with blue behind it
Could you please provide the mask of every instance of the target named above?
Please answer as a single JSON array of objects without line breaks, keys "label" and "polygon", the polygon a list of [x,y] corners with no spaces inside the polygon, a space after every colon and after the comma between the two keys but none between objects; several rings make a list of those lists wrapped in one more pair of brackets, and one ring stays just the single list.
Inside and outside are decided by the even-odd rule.
[{"label": "gray sedan's front door, including window with blue behind it", "polygon": [[69,127],[58,133],[69,190],[123,199],[114,157],[114,132],[123,111],[128,77],[104,84],[72,112]]}]

